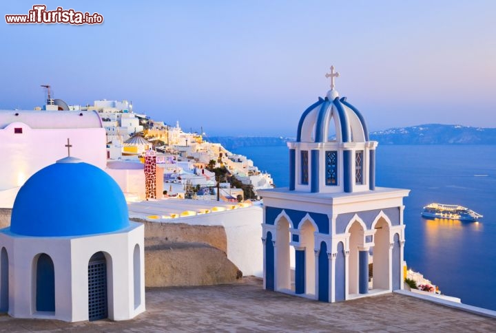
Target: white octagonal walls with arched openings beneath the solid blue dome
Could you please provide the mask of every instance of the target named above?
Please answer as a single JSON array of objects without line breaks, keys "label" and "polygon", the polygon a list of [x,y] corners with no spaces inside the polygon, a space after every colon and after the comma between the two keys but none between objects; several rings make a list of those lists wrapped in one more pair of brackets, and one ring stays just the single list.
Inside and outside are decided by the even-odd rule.
[{"label": "white octagonal walls with arched openings beneath the solid blue dome", "polygon": [[[9,259],[9,311],[17,318],[88,320],[88,262],[102,251],[107,257],[109,318],[131,319],[145,311],[144,226],[132,223],[117,233],[90,237],[19,237],[0,231],[0,248]],[[140,297],[134,302],[133,251],[140,252]],[[127,251],[123,251],[127,248]],[[37,257],[45,253],[54,264],[55,312],[36,310]],[[112,277],[112,278],[110,278]]]}]

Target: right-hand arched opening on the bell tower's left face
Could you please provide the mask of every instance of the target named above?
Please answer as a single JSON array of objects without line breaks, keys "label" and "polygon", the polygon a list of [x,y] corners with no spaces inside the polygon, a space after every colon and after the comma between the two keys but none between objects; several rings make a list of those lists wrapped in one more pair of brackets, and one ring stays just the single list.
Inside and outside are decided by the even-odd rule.
[{"label": "right-hand arched opening on the bell tower's left face", "polygon": [[[300,227],[300,244],[304,246],[304,294],[316,294],[316,256],[315,232],[316,228],[307,219]],[[298,272],[296,273],[298,275]]]}]

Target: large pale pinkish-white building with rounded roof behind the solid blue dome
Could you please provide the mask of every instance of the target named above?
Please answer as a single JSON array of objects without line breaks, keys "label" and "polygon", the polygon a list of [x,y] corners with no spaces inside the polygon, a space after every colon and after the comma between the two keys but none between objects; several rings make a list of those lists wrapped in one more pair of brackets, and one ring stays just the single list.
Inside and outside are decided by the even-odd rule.
[{"label": "large pale pinkish-white building with rounded roof behind the solid blue dome", "polygon": [[0,110],[0,207],[12,208],[19,186],[35,172],[72,152],[105,169],[105,129],[96,111]]}]

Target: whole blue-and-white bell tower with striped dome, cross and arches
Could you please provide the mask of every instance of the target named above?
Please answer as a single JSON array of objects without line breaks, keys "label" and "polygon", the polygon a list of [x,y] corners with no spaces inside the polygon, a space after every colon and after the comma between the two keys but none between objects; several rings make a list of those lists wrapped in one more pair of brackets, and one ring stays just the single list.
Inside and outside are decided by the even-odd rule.
[{"label": "whole blue-and-white bell tower with striped dome, cross and arches", "polygon": [[335,302],[403,286],[403,197],[375,186],[364,117],[334,89],[303,112],[289,147],[289,188],[264,200],[264,286]]}]

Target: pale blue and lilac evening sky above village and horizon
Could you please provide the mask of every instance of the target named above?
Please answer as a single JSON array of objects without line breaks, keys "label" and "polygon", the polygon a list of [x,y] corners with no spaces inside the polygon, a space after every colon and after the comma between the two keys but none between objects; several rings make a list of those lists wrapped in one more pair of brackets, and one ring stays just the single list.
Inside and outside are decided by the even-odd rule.
[{"label": "pale blue and lilac evening sky above village and horizon", "polygon": [[496,127],[496,1],[44,1],[102,25],[8,25],[0,4],[0,109],[54,97],[132,100],[210,135],[294,136],[329,89],[369,129]]}]

